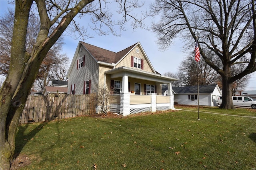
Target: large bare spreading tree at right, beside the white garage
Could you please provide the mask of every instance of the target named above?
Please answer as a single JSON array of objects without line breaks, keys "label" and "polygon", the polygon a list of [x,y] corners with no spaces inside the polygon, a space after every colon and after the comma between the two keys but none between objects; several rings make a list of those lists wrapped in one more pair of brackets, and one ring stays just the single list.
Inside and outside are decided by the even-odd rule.
[{"label": "large bare spreading tree at right, beside the white garage", "polygon": [[[235,109],[232,83],[256,71],[255,10],[255,0],[158,0],[152,4],[152,12],[162,16],[152,29],[163,49],[177,36],[192,49],[198,37],[202,58],[222,77],[220,108]],[[203,49],[210,49],[221,65],[216,65]],[[244,69],[233,75],[232,67],[241,64]]]}]

